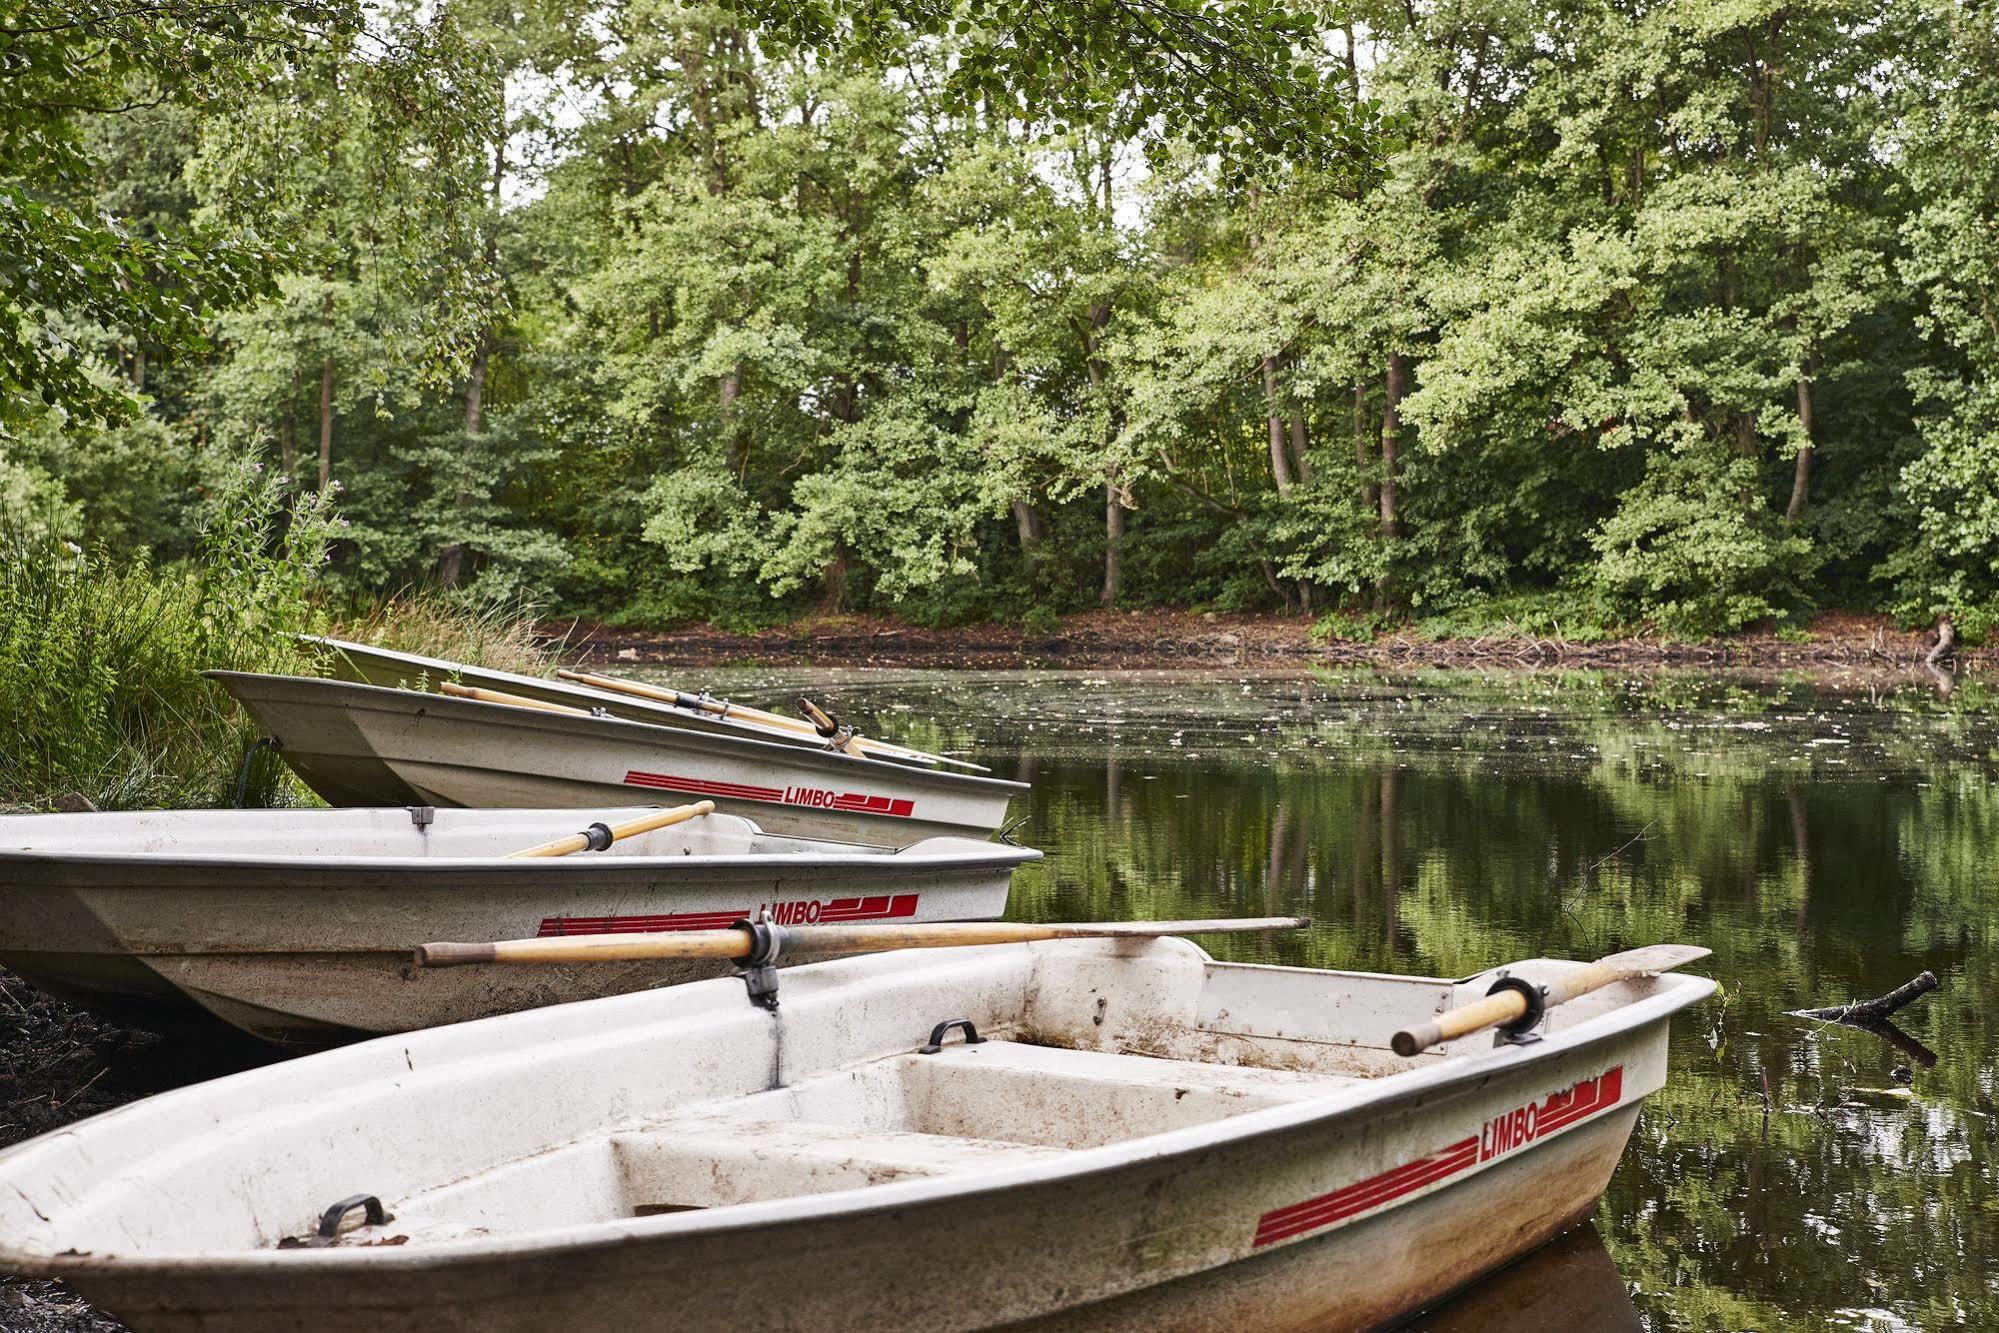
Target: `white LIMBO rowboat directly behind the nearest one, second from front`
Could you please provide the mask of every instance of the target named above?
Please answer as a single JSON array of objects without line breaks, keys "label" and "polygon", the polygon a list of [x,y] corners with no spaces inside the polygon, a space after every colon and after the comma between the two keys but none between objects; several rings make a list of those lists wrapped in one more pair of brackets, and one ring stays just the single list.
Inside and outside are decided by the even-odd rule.
[{"label": "white LIMBO rowboat directly behind the nearest one, second from front", "polygon": [[726,963],[420,971],[410,945],[774,919],[1005,911],[1037,851],[934,837],[900,851],[706,815],[604,851],[506,853],[634,809],[210,809],[0,817],[0,963],[160,1027],[212,1015],[324,1045],[716,975]]}]

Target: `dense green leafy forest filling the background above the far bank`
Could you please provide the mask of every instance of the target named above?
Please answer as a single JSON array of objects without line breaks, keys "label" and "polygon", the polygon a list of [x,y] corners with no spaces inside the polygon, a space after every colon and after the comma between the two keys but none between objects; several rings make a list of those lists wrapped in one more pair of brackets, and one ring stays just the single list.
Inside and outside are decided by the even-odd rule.
[{"label": "dense green leafy forest filling the background above the far bank", "polygon": [[6,14],[16,552],[250,460],[342,606],[1999,622],[1991,0]]}]

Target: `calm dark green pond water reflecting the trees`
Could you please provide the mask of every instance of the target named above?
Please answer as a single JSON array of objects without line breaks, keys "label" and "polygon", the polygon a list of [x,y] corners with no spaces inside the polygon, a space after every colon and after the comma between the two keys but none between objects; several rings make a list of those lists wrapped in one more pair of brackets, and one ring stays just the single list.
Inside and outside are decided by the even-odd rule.
[{"label": "calm dark green pond water reflecting the trees", "polygon": [[[1017,837],[1047,859],[1017,917],[1305,913],[1201,943],[1433,975],[1711,947],[1723,991],[1675,1021],[1593,1235],[1437,1329],[1999,1329],[1999,713],[1977,681],[670,675],[786,711],[804,687],[1031,781]],[[1901,1013],[1903,1047],[1787,1015],[1925,967],[1943,987]],[[1593,1313],[1537,1305],[1577,1295]]]}]

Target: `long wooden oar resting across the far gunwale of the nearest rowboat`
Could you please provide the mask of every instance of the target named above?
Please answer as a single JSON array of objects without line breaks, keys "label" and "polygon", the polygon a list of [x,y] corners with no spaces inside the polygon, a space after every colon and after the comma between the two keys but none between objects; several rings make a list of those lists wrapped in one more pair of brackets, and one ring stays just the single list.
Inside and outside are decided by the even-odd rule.
[{"label": "long wooden oar resting across the far gunwale of the nearest rowboat", "polygon": [[[1217,921],[1087,921],[1031,925],[1025,921],[934,921],[928,925],[786,925],[786,953],[874,953],[878,949],[946,949],[968,943],[1029,943],[1033,939],[1151,939],[1223,931],[1289,931],[1311,917],[1223,917]],[[496,943],[426,943],[424,967],[458,963],[630,963],[652,957],[746,957],[752,933],[648,931],[628,935],[550,935]]]}]

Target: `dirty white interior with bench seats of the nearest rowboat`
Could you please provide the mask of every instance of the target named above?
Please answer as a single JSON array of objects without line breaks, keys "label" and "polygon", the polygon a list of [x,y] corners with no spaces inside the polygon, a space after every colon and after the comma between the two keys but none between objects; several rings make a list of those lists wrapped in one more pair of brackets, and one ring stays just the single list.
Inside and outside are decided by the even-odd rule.
[{"label": "dirty white interior with bench seats of the nearest rowboat", "polygon": [[[1545,981],[1569,967],[1513,971]],[[1625,981],[1549,1023],[1677,983],[1707,985]],[[1397,1073],[1491,1049],[1483,1033],[1415,1059],[1389,1051],[1397,1027],[1487,985],[1217,963],[1179,939],[798,967],[776,1013],[726,977],[370,1041],[140,1103],[76,1161],[48,1149],[40,1171],[14,1165],[0,1225],[20,1235],[26,1219],[58,1251],[184,1253],[190,1219],[206,1251],[324,1249],[328,1207],[372,1195],[380,1221],[354,1209],[332,1225],[334,1247],[366,1249],[970,1177],[1301,1101],[1369,1107]],[[218,1123],[228,1145],[176,1139],[212,1139]],[[178,1207],[154,1207],[162,1197]]]}]

